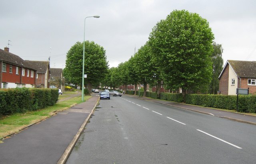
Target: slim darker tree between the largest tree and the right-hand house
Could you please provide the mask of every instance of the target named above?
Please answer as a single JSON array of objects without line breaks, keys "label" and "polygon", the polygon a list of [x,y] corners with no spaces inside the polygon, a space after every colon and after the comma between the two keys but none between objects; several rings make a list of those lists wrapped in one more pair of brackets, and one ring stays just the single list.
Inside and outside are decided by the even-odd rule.
[{"label": "slim darker tree between the largest tree and the right-hand house", "polygon": [[223,69],[222,53],[223,48],[221,44],[212,43],[214,51],[212,52],[212,82],[210,83],[209,93],[217,94],[219,90],[219,75]]}]

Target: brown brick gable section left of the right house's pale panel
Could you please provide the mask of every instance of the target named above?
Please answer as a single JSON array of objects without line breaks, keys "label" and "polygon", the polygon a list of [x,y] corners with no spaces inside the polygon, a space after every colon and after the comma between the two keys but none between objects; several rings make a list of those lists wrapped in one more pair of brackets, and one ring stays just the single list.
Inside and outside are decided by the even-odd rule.
[{"label": "brown brick gable section left of the right house's pale panel", "polygon": [[220,77],[219,90],[220,94],[228,95],[228,74],[229,74],[229,65],[226,66],[222,76]]}]

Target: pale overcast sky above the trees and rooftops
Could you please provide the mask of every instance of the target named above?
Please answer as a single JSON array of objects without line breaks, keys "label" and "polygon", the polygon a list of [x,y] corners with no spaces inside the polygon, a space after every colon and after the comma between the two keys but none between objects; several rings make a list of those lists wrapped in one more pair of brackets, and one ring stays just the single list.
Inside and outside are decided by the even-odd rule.
[{"label": "pale overcast sky above the trees and rooftops", "polygon": [[0,4],[0,49],[9,47],[24,60],[50,57],[52,68],[65,67],[66,53],[84,40],[84,29],[85,40],[104,47],[109,67],[117,67],[174,10],[197,13],[209,22],[214,41],[224,49],[224,64],[256,61],[255,0],[0,0]]}]

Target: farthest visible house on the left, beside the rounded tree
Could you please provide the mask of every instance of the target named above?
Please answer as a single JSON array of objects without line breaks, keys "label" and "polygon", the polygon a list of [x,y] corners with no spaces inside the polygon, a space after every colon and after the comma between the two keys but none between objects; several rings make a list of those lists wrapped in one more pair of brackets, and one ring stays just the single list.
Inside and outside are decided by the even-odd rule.
[{"label": "farthest visible house on the left, beside the rounded tree", "polygon": [[58,88],[64,91],[64,80],[62,68],[51,68],[50,88]]}]

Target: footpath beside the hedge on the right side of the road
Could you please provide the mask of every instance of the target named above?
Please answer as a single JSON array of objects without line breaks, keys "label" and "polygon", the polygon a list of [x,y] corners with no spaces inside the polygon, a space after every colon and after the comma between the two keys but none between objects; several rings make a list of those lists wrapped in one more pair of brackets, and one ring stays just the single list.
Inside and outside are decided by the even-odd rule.
[{"label": "footpath beside the hedge on the right side of the road", "polygon": [[152,99],[152,98],[149,98],[149,97],[139,97],[139,96],[134,96],[134,95],[128,95],[128,96],[132,96],[132,97],[135,97],[137,99],[152,101],[152,102],[160,103],[160,104],[164,104],[164,105],[170,105],[172,107],[178,107],[178,108],[182,108],[182,109],[186,109],[186,110],[190,110],[190,111],[204,113],[204,114],[207,114],[207,115],[212,115],[212,116],[216,116],[216,117],[230,119],[230,120],[233,120],[233,121],[238,121],[238,122],[242,122],[242,123],[248,123],[248,124],[256,125],[256,117],[251,116],[251,115],[246,115],[244,113],[233,113],[233,112],[222,111],[222,110],[212,109],[212,108],[207,108],[207,107],[199,107],[199,106],[196,106],[196,105],[189,105],[189,104],[184,104],[184,103],[175,103],[175,102],[164,101],[164,100],[160,100],[160,99]]}]

